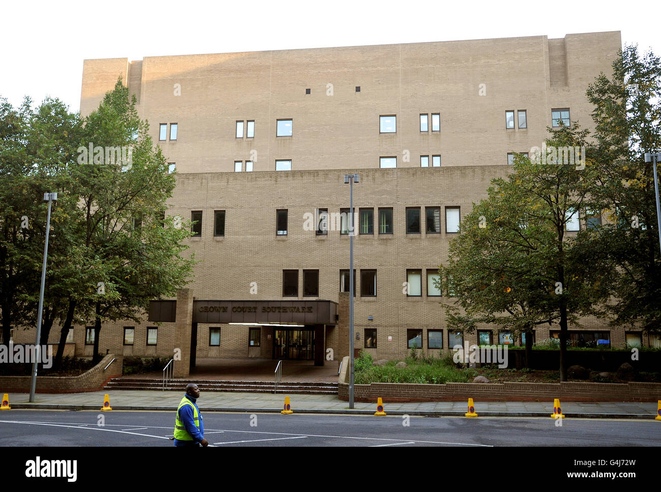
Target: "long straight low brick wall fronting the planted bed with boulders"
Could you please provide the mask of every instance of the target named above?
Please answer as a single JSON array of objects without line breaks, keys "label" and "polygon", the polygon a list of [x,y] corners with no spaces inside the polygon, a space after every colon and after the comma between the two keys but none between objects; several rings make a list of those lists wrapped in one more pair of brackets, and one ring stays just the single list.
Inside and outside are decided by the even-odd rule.
[{"label": "long straight low brick wall fronting the planted bed with boulders", "polygon": [[[348,401],[349,385],[339,383],[338,397]],[[383,401],[401,403],[407,401],[537,401],[554,398],[564,401],[657,401],[661,399],[659,383],[447,383],[447,384],[397,384],[372,383],[354,385],[354,401],[376,403]]]}]

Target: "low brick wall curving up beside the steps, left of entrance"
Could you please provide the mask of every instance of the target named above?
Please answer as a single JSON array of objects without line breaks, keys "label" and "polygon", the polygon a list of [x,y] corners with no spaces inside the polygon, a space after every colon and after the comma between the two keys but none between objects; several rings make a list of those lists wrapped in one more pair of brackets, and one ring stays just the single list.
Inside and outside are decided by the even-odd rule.
[{"label": "low brick wall curving up beside the steps, left of entrance", "polygon": [[[110,361],[117,358],[112,364]],[[37,376],[36,393],[82,393],[102,390],[111,378],[122,376],[124,358],[108,354],[80,376]],[[104,370],[108,364],[110,366]],[[29,393],[30,376],[0,376],[0,393]]]}]

